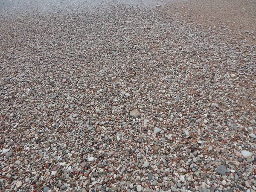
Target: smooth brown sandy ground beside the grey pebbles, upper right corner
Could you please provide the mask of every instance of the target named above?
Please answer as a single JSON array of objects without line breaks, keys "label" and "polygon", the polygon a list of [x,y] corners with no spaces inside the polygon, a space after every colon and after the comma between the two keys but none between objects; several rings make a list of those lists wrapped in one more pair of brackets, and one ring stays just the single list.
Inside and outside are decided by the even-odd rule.
[{"label": "smooth brown sandy ground beside the grey pebbles, upper right corner", "polygon": [[165,2],[162,9],[186,23],[217,29],[236,40],[256,43],[256,0],[189,0]]}]

